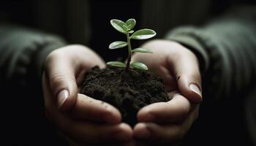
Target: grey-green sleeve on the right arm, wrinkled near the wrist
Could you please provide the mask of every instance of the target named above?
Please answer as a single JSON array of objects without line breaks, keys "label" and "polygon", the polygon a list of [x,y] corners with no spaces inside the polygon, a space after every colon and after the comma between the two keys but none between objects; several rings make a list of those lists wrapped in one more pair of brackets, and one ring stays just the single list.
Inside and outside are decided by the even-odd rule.
[{"label": "grey-green sleeve on the right arm, wrinkled near the wrist", "polygon": [[205,26],[184,26],[166,39],[189,47],[200,61],[203,91],[211,98],[230,97],[255,85],[256,7],[233,7]]}]

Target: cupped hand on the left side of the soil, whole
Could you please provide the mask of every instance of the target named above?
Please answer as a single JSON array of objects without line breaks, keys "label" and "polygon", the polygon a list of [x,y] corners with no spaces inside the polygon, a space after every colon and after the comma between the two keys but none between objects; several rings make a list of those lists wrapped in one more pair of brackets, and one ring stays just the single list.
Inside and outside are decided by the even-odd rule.
[{"label": "cupped hand on the left side of the soil, whole", "polygon": [[48,119],[69,139],[81,144],[123,142],[132,129],[121,123],[115,107],[78,93],[87,69],[104,67],[99,56],[82,45],[54,50],[45,60],[42,87]]}]

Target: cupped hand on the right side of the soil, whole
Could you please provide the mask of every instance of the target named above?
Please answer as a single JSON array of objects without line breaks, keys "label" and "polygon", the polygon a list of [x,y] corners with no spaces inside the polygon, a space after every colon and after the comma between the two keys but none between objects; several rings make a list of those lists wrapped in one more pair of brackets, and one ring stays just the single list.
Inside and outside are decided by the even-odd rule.
[{"label": "cupped hand on the right side of the soil, whole", "polygon": [[138,112],[140,123],[134,128],[134,136],[149,142],[176,142],[197,119],[202,101],[197,58],[177,42],[154,40],[143,47],[153,54],[136,53],[133,60],[143,62],[164,78],[171,100],[143,107]]}]

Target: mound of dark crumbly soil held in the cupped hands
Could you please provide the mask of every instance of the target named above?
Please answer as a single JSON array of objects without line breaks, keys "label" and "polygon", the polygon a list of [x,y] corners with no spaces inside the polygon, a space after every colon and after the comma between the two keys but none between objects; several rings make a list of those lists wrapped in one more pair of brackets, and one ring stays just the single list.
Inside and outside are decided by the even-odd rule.
[{"label": "mound of dark crumbly soil held in the cupped hands", "polygon": [[95,66],[89,72],[81,93],[94,99],[106,101],[116,107],[122,120],[130,126],[137,121],[137,112],[142,107],[160,101],[168,101],[167,92],[160,77],[139,69]]}]

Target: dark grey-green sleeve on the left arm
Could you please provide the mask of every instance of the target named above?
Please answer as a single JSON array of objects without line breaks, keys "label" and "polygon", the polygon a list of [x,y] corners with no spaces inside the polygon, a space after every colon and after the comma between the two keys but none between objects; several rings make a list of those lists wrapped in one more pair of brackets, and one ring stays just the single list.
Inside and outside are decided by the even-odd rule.
[{"label": "dark grey-green sleeve on the left arm", "polygon": [[63,39],[52,34],[0,25],[0,84],[39,82],[47,55],[64,45]]}]

